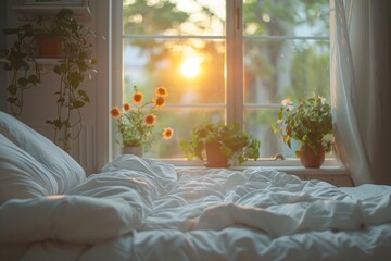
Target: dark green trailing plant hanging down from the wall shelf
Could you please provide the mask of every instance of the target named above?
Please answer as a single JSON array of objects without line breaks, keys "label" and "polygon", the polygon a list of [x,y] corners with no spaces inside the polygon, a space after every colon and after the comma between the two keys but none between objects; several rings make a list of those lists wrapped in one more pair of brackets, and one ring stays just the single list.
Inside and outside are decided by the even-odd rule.
[{"label": "dark green trailing plant hanging down from the wall shelf", "polygon": [[[56,15],[38,16],[36,23],[23,24],[16,28],[3,29],[5,35],[15,35],[14,45],[3,50],[4,69],[12,74],[8,86],[8,102],[14,115],[22,113],[24,91],[40,84],[42,65],[37,53],[37,39],[47,35],[51,39],[61,39],[55,44],[61,53],[49,53],[45,57],[60,57],[53,72],[60,77],[56,96],[56,115],[46,123],[54,129],[54,142],[64,150],[71,149],[71,139],[78,137],[81,130],[80,109],[89,102],[89,97],[80,84],[90,77],[96,59],[90,58],[92,45],[87,41],[94,32],[73,18],[73,11],[63,9]],[[47,48],[43,48],[47,49]],[[75,136],[71,135],[71,129]]]}]

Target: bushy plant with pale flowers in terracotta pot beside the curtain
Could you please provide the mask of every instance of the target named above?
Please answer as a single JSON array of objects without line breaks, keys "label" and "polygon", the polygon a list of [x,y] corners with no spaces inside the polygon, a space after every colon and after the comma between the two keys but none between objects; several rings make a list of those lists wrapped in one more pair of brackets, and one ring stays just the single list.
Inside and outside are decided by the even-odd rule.
[{"label": "bushy plant with pale flowers in terracotta pot beside the curtain", "polygon": [[275,129],[289,148],[293,139],[300,142],[295,153],[305,167],[319,167],[332,146],[330,105],[325,98],[315,95],[299,99],[298,107],[289,99],[281,103]]}]

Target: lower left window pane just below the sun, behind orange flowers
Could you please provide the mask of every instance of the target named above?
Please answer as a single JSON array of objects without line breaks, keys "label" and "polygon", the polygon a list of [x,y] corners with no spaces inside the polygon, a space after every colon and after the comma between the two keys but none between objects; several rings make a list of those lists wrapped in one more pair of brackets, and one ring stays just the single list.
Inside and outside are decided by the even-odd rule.
[{"label": "lower left window pane just below the sun, behind orange flowers", "polygon": [[163,108],[157,114],[156,130],[172,127],[174,136],[169,140],[163,140],[160,138],[161,133],[157,133],[156,142],[144,156],[151,158],[184,158],[180,141],[189,140],[192,129],[205,122],[224,123],[225,109]]}]

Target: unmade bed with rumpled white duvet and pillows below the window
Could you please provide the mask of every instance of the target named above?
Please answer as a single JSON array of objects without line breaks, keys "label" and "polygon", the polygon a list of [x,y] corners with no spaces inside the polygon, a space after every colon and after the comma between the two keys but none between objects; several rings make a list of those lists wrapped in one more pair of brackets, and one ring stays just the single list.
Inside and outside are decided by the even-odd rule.
[{"label": "unmade bed with rumpled white duvet and pillows below the window", "polygon": [[387,260],[391,188],[124,154],[86,177],[0,112],[0,260]]}]

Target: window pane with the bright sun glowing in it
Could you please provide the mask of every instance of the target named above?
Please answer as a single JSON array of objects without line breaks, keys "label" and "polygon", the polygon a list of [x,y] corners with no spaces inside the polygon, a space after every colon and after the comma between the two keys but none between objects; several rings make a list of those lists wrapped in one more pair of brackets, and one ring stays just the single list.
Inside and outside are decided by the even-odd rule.
[{"label": "window pane with the bright sun glowing in it", "polygon": [[126,88],[165,86],[169,103],[224,104],[224,40],[124,40]]}]

